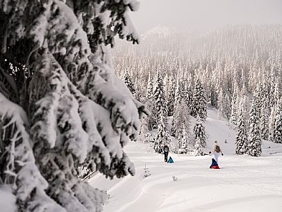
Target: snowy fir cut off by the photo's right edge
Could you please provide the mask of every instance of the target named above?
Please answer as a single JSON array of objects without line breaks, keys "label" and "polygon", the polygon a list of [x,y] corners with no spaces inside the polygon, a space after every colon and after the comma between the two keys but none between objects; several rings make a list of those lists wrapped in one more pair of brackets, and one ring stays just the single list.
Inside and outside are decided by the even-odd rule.
[{"label": "snowy fir cut off by the photo's right edge", "polygon": [[276,108],[273,140],[282,143],[282,98]]}]

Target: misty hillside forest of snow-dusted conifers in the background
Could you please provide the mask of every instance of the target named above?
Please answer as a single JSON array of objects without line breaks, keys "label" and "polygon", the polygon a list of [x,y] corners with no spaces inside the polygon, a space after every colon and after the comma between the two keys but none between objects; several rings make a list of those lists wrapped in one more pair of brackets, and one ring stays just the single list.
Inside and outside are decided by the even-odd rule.
[{"label": "misty hillside forest of snow-dusted conifers in the background", "polygon": [[[262,140],[282,142],[282,25],[228,26],[210,33],[156,29],[142,35],[141,43],[131,47],[118,42],[113,58],[117,75],[130,76],[133,95],[151,109],[151,116],[143,120],[144,131],[163,121],[168,127],[170,116],[172,129],[166,131],[181,146],[183,134],[191,127],[190,114],[197,117],[192,144],[201,152],[199,146],[204,147],[206,139],[201,124],[206,114],[199,117],[197,111],[205,105],[197,108],[201,103],[194,101],[202,87],[201,102],[217,108],[219,119],[226,117],[236,129],[237,154],[259,156]],[[160,79],[162,119],[158,117],[160,100],[154,97]],[[148,90],[154,90],[153,98]],[[201,139],[197,139],[199,134]],[[201,141],[196,144],[197,140]]]}]

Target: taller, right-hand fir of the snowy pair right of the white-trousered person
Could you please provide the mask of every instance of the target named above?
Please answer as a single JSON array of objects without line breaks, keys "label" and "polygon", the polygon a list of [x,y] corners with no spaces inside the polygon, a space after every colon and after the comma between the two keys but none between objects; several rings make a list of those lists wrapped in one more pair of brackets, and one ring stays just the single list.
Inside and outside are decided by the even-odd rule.
[{"label": "taller, right-hand fir of the snowy pair right of the white-trousered person", "polygon": [[249,150],[251,156],[260,156],[261,154],[261,138],[260,138],[260,122],[258,117],[257,99],[254,97],[249,112]]}]

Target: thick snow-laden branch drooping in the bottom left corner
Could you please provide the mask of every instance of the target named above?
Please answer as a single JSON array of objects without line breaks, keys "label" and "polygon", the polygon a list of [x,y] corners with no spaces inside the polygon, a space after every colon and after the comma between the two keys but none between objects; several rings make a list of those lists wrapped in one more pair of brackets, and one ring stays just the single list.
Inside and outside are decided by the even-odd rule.
[{"label": "thick snow-laden branch drooping in the bottom left corner", "polygon": [[[32,142],[26,131],[26,127],[28,127],[26,113],[20,106],[4,97],[1,92],[0,105],[0,122],[6,124],[6,131],[1,139],[5,142],[9,155],[6,157],[8,162],[5,170],[5,181],[14,184],[13,189],[17,191],[16,195],[19,201],[29,202],[28,211],[39,212],[44,207],[46,212],[66,212],[44,193],[48,184],[35,165],[35,158],[31,149]],[[13,126],[12,131],[11,126]]]}]

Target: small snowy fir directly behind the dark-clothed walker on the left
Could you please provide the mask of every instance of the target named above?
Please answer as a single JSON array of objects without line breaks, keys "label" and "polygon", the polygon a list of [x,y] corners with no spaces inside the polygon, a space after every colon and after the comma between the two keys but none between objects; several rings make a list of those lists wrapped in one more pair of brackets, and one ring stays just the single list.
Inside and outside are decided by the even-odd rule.
[{"label": "small snowy fir directly behind the dark-clothed walker on the left", "polygon": [[157,153],[163,153],[163,147],[165,145],[170,145],[170,136],[167,132],[167,128],[165,127],[163,115],[160,116],[160,120],[158,122],[158,131],[156,133],[154,150]]}]

